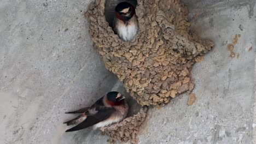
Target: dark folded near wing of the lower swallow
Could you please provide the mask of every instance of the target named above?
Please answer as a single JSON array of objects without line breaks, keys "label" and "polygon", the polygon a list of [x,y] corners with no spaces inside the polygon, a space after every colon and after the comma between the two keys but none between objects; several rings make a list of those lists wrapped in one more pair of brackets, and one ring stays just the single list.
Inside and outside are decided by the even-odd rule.
[{"label": "dark folded near wing of the lower swallow", "polygon": [[76,130],[91,127],[92,125],[102,122],[107,118],[109,118],[114,111],[115,109],[110,107],[101,108],[100,110],[98,110],[97,113],[95,113],[95,115],[87,116],[87,118],[83,122],[79,123],[78,125],[76,125],[71,129],[66,130],[66,132],[76,131]]}]

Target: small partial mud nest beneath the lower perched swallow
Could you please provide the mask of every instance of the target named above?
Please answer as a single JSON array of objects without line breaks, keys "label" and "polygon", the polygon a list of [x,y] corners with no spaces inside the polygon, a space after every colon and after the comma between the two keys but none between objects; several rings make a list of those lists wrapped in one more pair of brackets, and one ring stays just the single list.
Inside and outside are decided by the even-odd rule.
[{"label": "small partial mud nest beneath the lower perched swallow", "polygon": [[110,143],[115,143],[117,141],[137,143],[139,127],[146,118],[147,110],[147,107],[142,107],[136,115],[127,117],[120,123],[103,127],[100,130],[102,131],[102,134],[110,137],[108,140]]}]

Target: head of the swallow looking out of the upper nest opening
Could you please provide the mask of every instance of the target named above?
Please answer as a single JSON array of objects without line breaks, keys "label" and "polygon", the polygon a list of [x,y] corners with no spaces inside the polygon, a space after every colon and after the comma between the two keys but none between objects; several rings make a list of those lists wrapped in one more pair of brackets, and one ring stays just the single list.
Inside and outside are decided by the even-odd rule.
[{"label": "head of the swallow looking out of the upper nest opening", "polygon": [[135,9],[132,4],[127,2],[121,2],[115,7],[115,14],[118,19],[131,19],[131,17],[135,14]]}]

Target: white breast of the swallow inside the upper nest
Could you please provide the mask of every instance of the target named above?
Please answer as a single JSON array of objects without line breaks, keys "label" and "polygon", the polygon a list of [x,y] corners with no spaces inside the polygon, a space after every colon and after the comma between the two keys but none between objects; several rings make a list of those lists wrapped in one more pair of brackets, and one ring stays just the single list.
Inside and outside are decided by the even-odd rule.
[{"label": "white breast of the swallow inside the upper nest", "polygon": [[138,27],[135,23],[131,23],[130,25],[118,25],[118,35],[125,41],[130,41],[135,37],[138,32]]}]

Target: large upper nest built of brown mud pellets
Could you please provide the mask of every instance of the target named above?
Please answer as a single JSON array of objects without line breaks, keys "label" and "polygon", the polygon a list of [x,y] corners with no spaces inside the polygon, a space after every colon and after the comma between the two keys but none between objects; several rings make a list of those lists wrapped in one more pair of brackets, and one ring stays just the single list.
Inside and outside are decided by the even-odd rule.
[{"label": "large upper nest built of brown mud pellets", "polygon": [[85,16],[106,68],[123,81],[141,105],[164,105],[192,91],[190,71],[213,43],[189,33],[188,9],[179,0],[138,0],[139,33],[132,41],[114,34],[104,16],[104,0],[91,3]]}]

